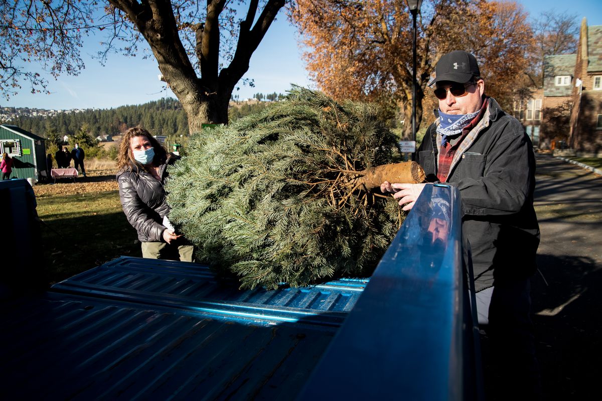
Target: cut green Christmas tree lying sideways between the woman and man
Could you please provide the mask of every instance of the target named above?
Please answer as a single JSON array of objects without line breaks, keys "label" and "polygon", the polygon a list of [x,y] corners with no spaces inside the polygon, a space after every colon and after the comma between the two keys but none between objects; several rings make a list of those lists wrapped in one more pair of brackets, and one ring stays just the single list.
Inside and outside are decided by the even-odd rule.
[{"label": "cut green Christmas tree lying sideways between the woman and man", "polygon": [[284,100],[191,135],[166,184],[170,221],[196,258],[241,287],[306,286],[371,274],[402,222],[389,182],[422,182],[389,164],[393,133],[374,105],[293,87]]}]

